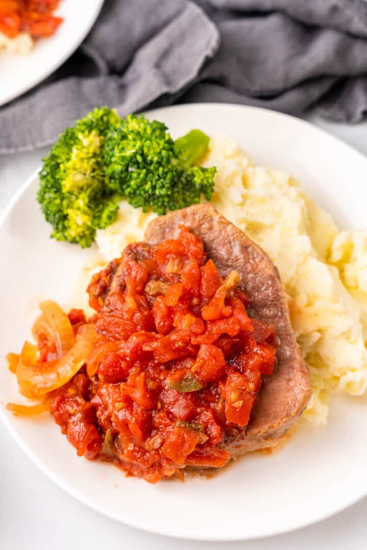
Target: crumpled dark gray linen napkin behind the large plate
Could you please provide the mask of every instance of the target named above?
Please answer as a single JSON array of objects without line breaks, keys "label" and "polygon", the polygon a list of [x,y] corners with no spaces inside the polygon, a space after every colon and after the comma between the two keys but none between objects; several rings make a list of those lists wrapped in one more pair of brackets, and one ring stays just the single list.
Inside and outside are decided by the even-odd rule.
[{"label": "crumpled dark gray linen napkin behind the large plate", "polygon": [[106,0],[63,67],[0,108],[0,153],[51,144],[95,106],[124,115],[198,101],[293,114],[316,105],[358,122],[367,112],[367,3]]}]

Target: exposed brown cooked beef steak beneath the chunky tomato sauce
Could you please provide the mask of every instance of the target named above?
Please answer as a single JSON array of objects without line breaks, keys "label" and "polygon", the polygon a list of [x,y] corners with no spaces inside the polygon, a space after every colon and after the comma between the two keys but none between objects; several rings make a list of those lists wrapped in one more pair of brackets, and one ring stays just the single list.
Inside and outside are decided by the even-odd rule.
[{"label": "exposed brown cooked beef steak beneath the chunky tomato sauce", "polygon": [[233,456],[272,447],[293,426],[311,397],[308,368],[292,331],[278,270],[264,250],[209,204],[154,219],[146,229],[145,241],[157,244],[177,238],[179,225],[203,240],[222,277],[232,270],[238,272],[239,287],[252,298],[249,315],[275,325],[280,340],[275,370],[263,377],[248,426],[223,442]]}]

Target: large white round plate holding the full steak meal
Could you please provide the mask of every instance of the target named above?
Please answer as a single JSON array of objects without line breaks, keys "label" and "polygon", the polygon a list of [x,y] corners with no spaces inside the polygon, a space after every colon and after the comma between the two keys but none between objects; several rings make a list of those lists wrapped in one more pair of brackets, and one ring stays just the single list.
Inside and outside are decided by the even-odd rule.
[{"label": "large white round plate holding the full steak meal", "polygon": [[[191,105],[158,109],[173,136],[192,128],[227,133],[255,163],[285,169],[342,227],[364,227],[367,160],[301,120],[250,107]],[[48,238],[35,200],[34,175],[8,208],[0,228],[0,356],[17,351],[37,311],[53,298],[65,307],[92,251]],[[355,197],[358,197],[356,200]],[[327,427],[301,421],[275,454],[255,453],[219,475],[149,485],[115,467],[77,458],[51,417],[21,419],[4,410],[20,400],[15,377],[0,370],[1,416],[20,447],[60,487],[111,518],[148,531],[200,540],[274,535],[326,518],[367,493],[365,398],[331,404]]]}]

